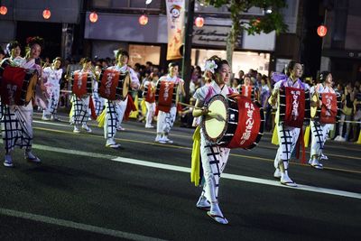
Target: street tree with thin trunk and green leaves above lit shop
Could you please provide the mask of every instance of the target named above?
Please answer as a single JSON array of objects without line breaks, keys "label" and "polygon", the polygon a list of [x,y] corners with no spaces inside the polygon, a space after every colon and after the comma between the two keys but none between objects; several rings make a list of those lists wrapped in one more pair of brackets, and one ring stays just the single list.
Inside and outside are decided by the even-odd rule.
[{"label": "street tree with thin trunk and green leaves above lit shop", "polygon": [[[236,41],[242,29],[248,34],[255,35],[261,32],[269,33],[273,30],[279,34],[287,31],[287,24],[283,21],[280,9],[286,6],[285,0],[200,0],[204,5],[220,7],[227,5],[231,14],[232,27],[227,37],[227,61],[232,66],[232,55],[235,50]],[[241,22],[241,14],[251,7],[264,9],[265,14],[260,17],[251,17],[249,22]],[[269,13],[266,13],[266,10]]]}]

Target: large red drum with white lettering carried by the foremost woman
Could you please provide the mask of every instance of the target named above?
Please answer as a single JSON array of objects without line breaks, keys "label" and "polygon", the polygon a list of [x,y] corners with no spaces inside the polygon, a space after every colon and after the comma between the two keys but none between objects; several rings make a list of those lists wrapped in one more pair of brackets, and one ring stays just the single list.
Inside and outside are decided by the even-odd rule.
[{"label": "large red drum with white lettering carried by the foremost woman", "polygon": [[231,149],[252,149],[261,140],[264,110],[258,102],[241,95],[216,95],[209,99],[208,109],[224,119],[202,118],[202,129],[212,143]]}]

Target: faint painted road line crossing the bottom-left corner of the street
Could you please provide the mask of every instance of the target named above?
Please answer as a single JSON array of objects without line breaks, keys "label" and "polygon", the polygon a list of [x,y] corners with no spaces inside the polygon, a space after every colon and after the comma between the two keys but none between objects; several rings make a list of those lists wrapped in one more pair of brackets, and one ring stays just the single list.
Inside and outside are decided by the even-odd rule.
[{"label": "faint painted road line crossing the bottom-left corner of the street", "polygon": [[162,240],[162,239],[154,238],[151,236],[141,236],[141,235],[127,233],[127,232],[123,232],[123,231],[119,231],[119,230],[113,230],[113,229],[108,229],[108,228],[104,228],[104,227],[97,227],[97,226],[92,226],[92,225],[88,225],[88,224],[77,223],[77,222],[64,220],[64,219],[60,219],[60,218],[50,218],[50,217],[46,217],[46,216],[42,216],[42,215],[16,211],[16,210],[12,210],[12,209],[1,209],[0,208],[0,214],[5,215],[5,216],[10,216],[10,217],[15,217],[15,218],[23,218],[23,219],[27,219],[27,220],[36,221],[36,222],[42,222],[42,223],[46,223],[46,224],[56,225],[56,226],[60,226],[60,227],[70,227],[70,228],[74,228],[74,229],[78,229],[78,230],[84,230],[84,231],[88,231],[88,232],[92,232],[92,233],[101,234],[101,235],[115,236],[115,237],[130,239],[130,240],[137,240],[137,241]]}]

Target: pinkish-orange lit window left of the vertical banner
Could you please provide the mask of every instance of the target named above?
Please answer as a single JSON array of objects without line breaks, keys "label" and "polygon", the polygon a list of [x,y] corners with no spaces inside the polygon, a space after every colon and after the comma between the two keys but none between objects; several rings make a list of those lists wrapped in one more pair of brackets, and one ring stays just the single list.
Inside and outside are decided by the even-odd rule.
[{"label": "pinkish-orange lit window left of the vertical banner", "polygon": [[153,45],[129,44],[130,64],[151,61],[154,65],[159,65],[161,58],[161,47]]}]

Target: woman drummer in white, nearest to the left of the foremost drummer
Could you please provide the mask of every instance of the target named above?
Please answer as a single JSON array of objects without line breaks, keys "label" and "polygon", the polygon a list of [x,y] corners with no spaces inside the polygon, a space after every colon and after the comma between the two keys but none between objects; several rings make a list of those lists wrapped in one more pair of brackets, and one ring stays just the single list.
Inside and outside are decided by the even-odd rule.
[{"label": "woman drummer in white, nearest to the left of the foremost drummer", "polygon": [[[179,65],[176,62],[171,62],[168,65],[168,75],[166,76],[162,76],[158,81],[170,81],[174,83],[175,85],[179,85],[179,91],[180,93],[176,93],[181,94],[182,96],[185,96],[185,91],[184,91],[184,80],[180,79],[178,77],[178,73],[179,73]],[[159,85],[159,84],[158,84]],[[173,91],[177,91],[176,89],[173,89]],[[158,103],[159,104],[159,103]],[[158,111],[158,118],[157,118],[157,135],[155,137],[155,142],[156,143],[161,143],[161,144],[172,144],[173,141],[171,141],[171,139],[168,138],[169,133],[171,131],[171,127],[174,124],[175,121],[175,116],[177,115],[177,107],[176,104],[172,104],[171,106],[171,110],[169,112],[165,112],[162,110]]]}]

